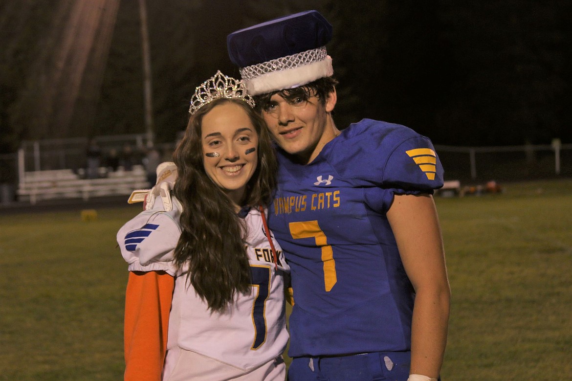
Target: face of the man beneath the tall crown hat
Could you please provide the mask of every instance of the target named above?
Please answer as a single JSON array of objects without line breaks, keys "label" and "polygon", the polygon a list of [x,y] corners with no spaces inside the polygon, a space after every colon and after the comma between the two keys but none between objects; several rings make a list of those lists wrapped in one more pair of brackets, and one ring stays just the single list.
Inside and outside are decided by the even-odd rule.
[{"label": "face of the man beneath the tall crown hat", "polygon": [[329,114],[335,104],[335,93],[324,102],[315,95],[284,98],[276,93],[264,106],[263,117],[277,144],[308,164],[336,136]]}]

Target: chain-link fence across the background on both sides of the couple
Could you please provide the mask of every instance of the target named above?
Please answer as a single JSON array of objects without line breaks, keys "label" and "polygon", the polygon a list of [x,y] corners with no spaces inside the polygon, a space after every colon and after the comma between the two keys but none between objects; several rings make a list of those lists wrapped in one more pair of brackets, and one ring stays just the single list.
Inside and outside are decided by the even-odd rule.
[{"label": "chain-link fence across the background on both sides of the couple", "polygon": [[[136,161],[144,158],[144,134],[98,136],[102,165],[130,150]],[[18,153],[0,155],[0,203],[15,200],[19,176],[51,169],[81,171],[86,167],[88,138],[25,141]],[[163,161],[171,160],[176,143],[156,145]],[[463,184],[572,177],[572,144],[459,147],[435,145],[445,169],[445,180]]]}]

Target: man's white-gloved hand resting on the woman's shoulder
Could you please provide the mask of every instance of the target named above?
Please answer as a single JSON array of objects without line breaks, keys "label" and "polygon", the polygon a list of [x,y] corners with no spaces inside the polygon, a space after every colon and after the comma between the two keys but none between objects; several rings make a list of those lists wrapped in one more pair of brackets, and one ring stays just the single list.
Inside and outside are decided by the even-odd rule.
[{"label": "man's white-gloved hand resting on the woman's shoulder", "polygon": [[129,204],[140,203],[143,201],[143,208],[146,211],[153,209],[155,199],[161,196],[165,211],[169,212],[173,209],[171,201],[171,190],[177,180],[177,166],[172,161],[162,162],[157,166],[157,183],[151,189],[133,190],[129,200]]}]

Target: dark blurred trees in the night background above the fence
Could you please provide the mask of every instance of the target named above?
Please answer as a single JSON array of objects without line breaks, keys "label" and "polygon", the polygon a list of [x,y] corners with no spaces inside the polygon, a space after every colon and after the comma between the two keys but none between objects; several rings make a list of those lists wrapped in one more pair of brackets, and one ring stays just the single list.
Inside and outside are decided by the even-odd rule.
[{"label": "dark blurred trees in the night background above the fence", "polygon": [[[146,0],[146,6],[157,142],[176,139],[194,88],[217,69],[240,76],[228,59],[229,33],[308,9],[334,28],[327,48],[340,81],[339,128],[368,117],[408,125],[436,144],[572,142],[567,0]],[[89,37],[85,24],[96,14]],[[2,0],[0,153],[14,152],[22,140],[144,133],[140,27],[137,0]],[[66,36],[74,42],[63,59]],[[80,58],[80,78],[66,73],[65,65],[77,66]],[[62,72],[58,81],[53,68]]]}]

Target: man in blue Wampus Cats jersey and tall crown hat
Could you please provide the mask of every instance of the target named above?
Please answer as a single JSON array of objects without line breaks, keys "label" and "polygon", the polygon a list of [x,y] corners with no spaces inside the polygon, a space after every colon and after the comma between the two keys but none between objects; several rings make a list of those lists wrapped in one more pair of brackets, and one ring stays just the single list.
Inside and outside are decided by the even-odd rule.
[{"label": "man in blue Wampus Cats jersey and tall crown hat", "polygon": [[450,288],[431,141],[401,125],[333,122],[336,81],[317,12],[228,36],[279,145],[269,224],[291,267],[289,380],[436,380]]}]

